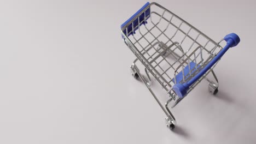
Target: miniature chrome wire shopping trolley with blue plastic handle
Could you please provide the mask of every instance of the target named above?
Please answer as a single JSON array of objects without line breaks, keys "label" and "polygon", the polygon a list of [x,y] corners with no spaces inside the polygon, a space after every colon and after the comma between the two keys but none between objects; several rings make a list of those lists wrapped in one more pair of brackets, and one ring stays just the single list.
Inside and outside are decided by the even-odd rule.
[{"label": "miniature chrome wire shopping trolley with blue plastic handle", "polygon": [[[213,68],[230,47],[240,42],[240,38],[231,33],[216,43],[160,4],[149,2],[121,25],[121,34],[137,57],[131,65],[132,75],[141,79],[153,94],[167,116],[166,125],[170,129],[176,124],[170,108],[179,104],[202,79],[209,82],[210,93],[218,92]],[[144,74],[137,61],[141,62]],[[213,74],[213,80],[206,77],[209,73]],[[165,104],[153,92],[153,81],[165,89]]]}]

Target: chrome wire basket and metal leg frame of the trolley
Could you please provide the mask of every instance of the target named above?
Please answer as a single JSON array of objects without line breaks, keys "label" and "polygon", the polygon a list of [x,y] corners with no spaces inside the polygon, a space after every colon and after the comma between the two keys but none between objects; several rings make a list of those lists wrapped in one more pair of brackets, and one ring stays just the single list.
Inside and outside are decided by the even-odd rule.
[{"label": "chrome wire basket and metal leg frame of the trolley", "polygon": [[[146,17],[146,9],[148,8],[150,8],[150,16]],[[139,15],[142,13],[144,13],[145,16],[144,20],[139,21]],[[159,18],[157,22],[154,22],[152,18],[153,15]],[[133,21],[136,19],[138,20],[139,25],[133,26]],[[146,23],[147,19],[149,19],[148,23],[140,26],[142,23]],[[165,24],[164,29],[162,29],[163,25],[160,26],[160,23]],[[130,33],[124,33],[125,29],[125,32],[128,32],[127,26],[129,25],[132,25],[132,31]],[[184,27],[187,28],[187,31]],[[172,34],[167,33],[171,28],[174,29]],[[137,34],[135,34],[135,29],[138,31]],[[196,33],[196,36],[192,34],[192,31]],[[216,43],[211,38],[207,37],[207,35],[191,26],[188,22],[157,3],[150,3],[145,10],[141,11],[138,16],[134,17],[126,24],[126,26],[123,27],[121,34],[123,35],[125,44],[137,57],[131,65],[132,75],[135,78],[139,77],[144,82],[160,105],[161,109],[165,112],[167,116],[167,127],[172,128],[172,125],[176,124],[176,119],[172,115],[168,105],[173,100],[173,104],[171,106],[171,108],[173,108],[183,99],[179,98],[172,90],[172,86],[176,84],[176,75],[182,71],[182,82],[190,80],[191,77],[196,75],[201,68],[205,67],[205,65],[207,65],[207,63],[210,62],[211,59],[222,49],[222,46],[220,46],[220,42],[222,40],[219,43]],[[182,38],[179,39],[178,35],[181,35]],[[151,38],[149,38],[149,36]],[[203,39],[203,42],[200,39]],[[186,42],[191,44],[184,45]],[[174,58],[174,61],[171,61],[170,57],[172,57],[172,60]],[[138,60],[144,65],[147,78],[139,71],[139,68],[136,65]],[[195,62],[196,67],[190,68],[190,62]],[[208,70],[205,75],[203,75],[193,84],[193,86],[189,88],[188,93],[192,91],[192,89],[203,78],[205,78],[210,83],[209,91],[214,94],[216,89],[218,89],[218,79],[213,72],[213,68],[216,64],[214,64],[214,66]],[[184,67],[186,65],[189,65],[189,75],[184,74]],[[173,77],[170,76],[170,71],[172,71]],[[210,72],[213,74],[215,82],[206,77]],[[168,95],[170,95],[165,105],[161,104],[160,100],[156,97],[150,87],[150,83],[152,82],[152,77],[150,77],[150,75],[153,76],[160,86],[166,90]]]}]

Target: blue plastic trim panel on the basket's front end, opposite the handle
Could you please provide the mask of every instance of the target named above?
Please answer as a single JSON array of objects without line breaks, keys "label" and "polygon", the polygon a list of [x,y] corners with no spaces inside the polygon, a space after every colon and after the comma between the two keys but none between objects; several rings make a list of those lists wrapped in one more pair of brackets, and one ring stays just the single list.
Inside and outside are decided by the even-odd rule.
[{"label": "blue plastic trim panel on the basket's front end, opposite the handle", "polygon": [[[127,25],[127,23],[129,23],[134,17],[136,17],[139,13],[141,13],[142,10],[146,9],[149,4],[150,4],[149,2],[147,2],[146,4],[144,4],[141,9],[139,9],[135,14],[133,14],[133,15],[130,17],[130,19],[128,19],[127,21],[125,21],[125,22],[121,25],[121,29],[123,29],[123,27],[124,27],[125,25]],[[145,14],[146,14],[146,16],[145,16]],[[148,18],[149,18],[148,16],[150,16],[150,8],[148,8],[148,9],[145,11],[145,13],[142,13],[141,15],[139,15],[139,21],[140,21],[140,22],[143,21],[143,22],[141,23],[141,25],[145,25],[145,24],[147,23],[146,20],[144,21],[144,19],[145,19],[145,17],[147,17],[146,19],[148,19]],[[133,23],[133,27],[138,26],[138,19],[134,20],[132,23]],[[132,23],[131,23],[129,26],[127,26],[127,31],[128,31],[128,32],[127,32],[127,33],[128,33],[127,37],[129,37],[129,35],[131,35],[131,34],[135,34],[135,31],[138,29],[138,27],[137,27],[136,29],[133,29],[134,32],[132,32]],[[139,25],[139,26],[141,26],[141,25]],[[126,34],[126,29],[124,29],[123,32]],[[131,33],[130,33],[130,32],[131,32]]]}]

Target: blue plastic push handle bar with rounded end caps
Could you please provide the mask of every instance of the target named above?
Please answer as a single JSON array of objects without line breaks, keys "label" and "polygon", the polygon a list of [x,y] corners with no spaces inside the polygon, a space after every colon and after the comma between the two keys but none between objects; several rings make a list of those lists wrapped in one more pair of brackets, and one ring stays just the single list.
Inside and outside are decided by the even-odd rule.
[{"label": "blue plastic push handle bar with rounded end caps", "polygon": [[212,66],[218,62],[218,60],[224,55],[226,51],[230,47],[236,46],[240,42],[240,38],[238,37],[237,34],[235,33],[230,33],[224,37],[224,40],[226,41],[226,46],[219,51],[217,56],[215,56],[212,61],[210,61],[204,68],[201,69],[201,71],[196,74],[192,79],[190,79],[188,82],[185,83],[177,83],[176,85],[173,86],[174,92],[178,95],[178,97],[183,98],[193,83],[195,83],[197,80],[200,79],[209,69],[212,68]]}]

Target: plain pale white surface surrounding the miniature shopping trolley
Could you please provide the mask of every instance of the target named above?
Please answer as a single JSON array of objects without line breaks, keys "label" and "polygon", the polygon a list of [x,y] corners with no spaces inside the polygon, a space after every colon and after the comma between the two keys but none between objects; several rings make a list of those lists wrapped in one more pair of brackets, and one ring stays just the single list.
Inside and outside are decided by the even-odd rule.
[{"label": "plain pale white surface surrounding the miniature shopping trolley", "polygon": [[146,1],[1,1],[0,143],[255,143],[254,1],[159,1],[218,41],[240,35],[173,113],[142,82],[120,25]]}]

